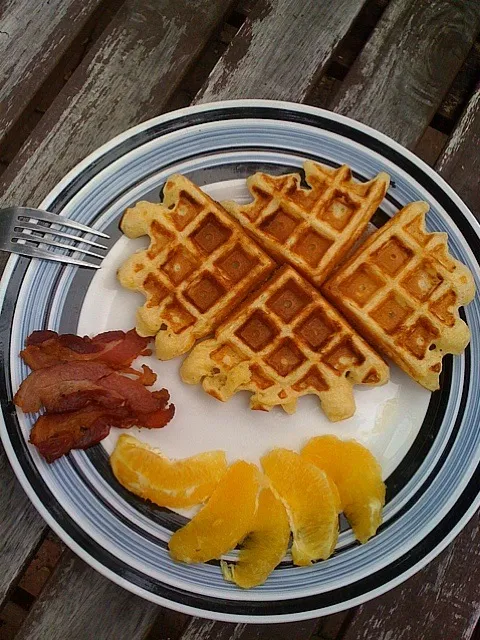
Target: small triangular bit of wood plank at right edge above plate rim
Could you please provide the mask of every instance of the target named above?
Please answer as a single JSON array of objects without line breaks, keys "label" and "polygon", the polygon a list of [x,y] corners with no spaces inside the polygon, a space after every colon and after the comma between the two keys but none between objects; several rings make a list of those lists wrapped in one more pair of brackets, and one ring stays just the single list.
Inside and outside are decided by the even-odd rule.
[{"label": "small triangular bit of wood plank at right edge above plate rim", "polygon": [[480,220],[480,86],[468,103],[436,169]]}]

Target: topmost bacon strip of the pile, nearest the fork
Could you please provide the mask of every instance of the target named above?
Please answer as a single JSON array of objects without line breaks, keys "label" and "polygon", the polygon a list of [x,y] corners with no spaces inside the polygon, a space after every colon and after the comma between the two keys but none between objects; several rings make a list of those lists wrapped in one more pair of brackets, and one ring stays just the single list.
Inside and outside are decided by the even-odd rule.
[{"label": "topmost bacon strip of the pile, nearest the fork", "polygon": [[135,329],[106,331],[93,338],[71,333],[58,335],[55,331],[34,331],[20,352],[24,362],[33,370],[51,367],[62,362],[97,361],[112,369],[129,367],[139,355],[148,355],[150,338],[142,338]]}]

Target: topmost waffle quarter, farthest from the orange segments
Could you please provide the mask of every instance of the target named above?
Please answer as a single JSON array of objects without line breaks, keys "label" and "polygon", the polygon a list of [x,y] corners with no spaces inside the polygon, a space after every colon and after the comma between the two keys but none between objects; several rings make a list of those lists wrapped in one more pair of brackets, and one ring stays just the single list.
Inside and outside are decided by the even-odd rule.
[{"label": "topmost waffle quarter, farthest from the orange segments", "polygon": [[256,173],[247,180],[253,202],[222,205],[280,263],[289,263],[317,287],[365,230],[388,189],[379,173],[369,182],[352,179],[346,165],[331,169],[304,163],[300,176]]}]

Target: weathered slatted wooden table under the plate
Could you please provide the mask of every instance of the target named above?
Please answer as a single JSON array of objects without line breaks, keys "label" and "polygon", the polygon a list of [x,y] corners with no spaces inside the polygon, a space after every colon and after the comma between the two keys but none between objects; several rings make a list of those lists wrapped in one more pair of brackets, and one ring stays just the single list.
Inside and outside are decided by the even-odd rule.
[{"label": "weathered slatted wooden table under the plate", "polygon": [[[275,98],[390,135],[480,218],[479,0],[3,0],[0,16],[3,205],[38,205],[86,154],[162,112]],[[356,609],[224,624],[143,601],[65,550],[1,445],[0,487],[1,639],[480,637],[478,516],[423,571]]]}]

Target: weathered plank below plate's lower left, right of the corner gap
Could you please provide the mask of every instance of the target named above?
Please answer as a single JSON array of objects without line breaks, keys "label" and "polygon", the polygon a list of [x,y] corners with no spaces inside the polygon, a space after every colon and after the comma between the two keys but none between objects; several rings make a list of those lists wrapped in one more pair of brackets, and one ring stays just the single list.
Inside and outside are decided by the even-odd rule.
[{"label": "weathered plank below plate's lower left, right of the corner gap", "polygon": [[107,580],[67,551],[17,639],[140,640],[157,614],[156,605]]}]

